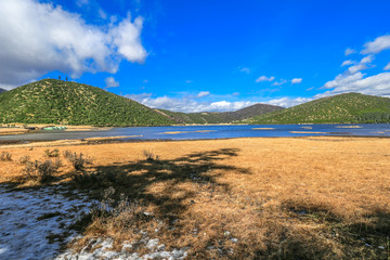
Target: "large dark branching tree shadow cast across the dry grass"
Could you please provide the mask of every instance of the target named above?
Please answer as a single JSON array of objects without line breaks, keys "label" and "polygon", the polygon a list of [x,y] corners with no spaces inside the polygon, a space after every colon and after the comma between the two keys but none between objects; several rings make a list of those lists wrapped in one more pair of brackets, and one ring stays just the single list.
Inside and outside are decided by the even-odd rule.
[{"label": "large dark branching tree shadow cast across the dry grass", "polygon": [[[152,206],[158,219],[173,223],[196,203],[193,199],[198,190],[191,188],[192,184],[227,194],[230,187],[217,181],[219,177],[227,171],[250,174],[247,169],[223,164],[224,159],[237,156],[238,152],[237,148],[222,148],[193,153],[170,160],[144,159],[96,166],[93,172],[75,172],[68,184],[89,190],[90,196],[98,200],[103,198],[105,188],[114,187],[115,200],[119,200],[119,195],[125,194],[130,200]],[[152,193],[152,187],[159,188],[158,193]],[[90,221],[91,219],[84,219],[77,229],[83,231]],[[176,223],[174,227],[180,230],[182,226]]]}]

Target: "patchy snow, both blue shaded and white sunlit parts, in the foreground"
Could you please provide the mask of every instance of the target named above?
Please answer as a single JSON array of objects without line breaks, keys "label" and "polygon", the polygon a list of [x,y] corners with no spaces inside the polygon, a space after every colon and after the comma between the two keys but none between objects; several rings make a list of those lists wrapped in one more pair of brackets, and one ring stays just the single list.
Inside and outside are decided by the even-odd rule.
[{"label": "patchy snow, both blue shaded and white sunlit parts, in the foreground", "polygon": [[[188,248],[168,251],[146,232],[141,240],[125,243],[119,252],[112,250],[112,239],[98,238],[91,239],[80,252],[66,250],[60,253],[63,243],[81,237],[76,237],[78,234],[69,226],[92,206],[86,195],[78,191],[69,193],[72,198],[64,196],[61,186],[10,190],[0,185],[0,259],[173,260],[186,257]],[[139,248],[147,248],[148,253],[134,252]]]}]

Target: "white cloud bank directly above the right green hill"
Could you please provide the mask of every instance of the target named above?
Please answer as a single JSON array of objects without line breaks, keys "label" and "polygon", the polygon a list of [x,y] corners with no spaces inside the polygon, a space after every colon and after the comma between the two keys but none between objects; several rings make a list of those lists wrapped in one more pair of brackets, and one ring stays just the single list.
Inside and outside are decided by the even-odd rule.
[{"label": "white cloud bank directly above the right green hill", "polygon": [[317,94],[315,98],[323,98],[334,94],[359,92],[369,95],[390,94],[390,73],[382,73],[363,78],[362,73],[354,75],[338,75],[335,80],[326,82],[324,88],[333,89],[325,93]]}]

